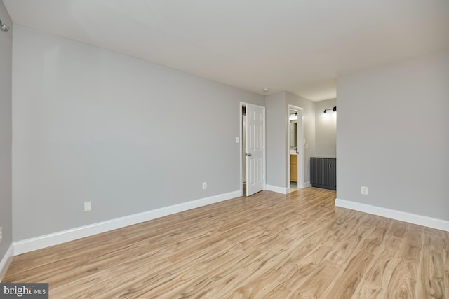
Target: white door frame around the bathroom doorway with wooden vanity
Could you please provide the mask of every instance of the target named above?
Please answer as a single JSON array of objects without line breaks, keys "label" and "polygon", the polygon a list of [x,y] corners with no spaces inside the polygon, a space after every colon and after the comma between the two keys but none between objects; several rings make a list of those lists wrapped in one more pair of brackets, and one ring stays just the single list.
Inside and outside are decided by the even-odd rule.
[{"label": "white door frame around the bathroom doorway with wooden vanity", "polygon": [[288,105],[287,110],[287,132],[288,132],[288,147],[287,147],[287,168],[288,168],[288,190],[290,192],[290,109],[297,110],[297,147],[300,151],[297,157],[297,188],[304,188],[304,109],[295,105]]}]

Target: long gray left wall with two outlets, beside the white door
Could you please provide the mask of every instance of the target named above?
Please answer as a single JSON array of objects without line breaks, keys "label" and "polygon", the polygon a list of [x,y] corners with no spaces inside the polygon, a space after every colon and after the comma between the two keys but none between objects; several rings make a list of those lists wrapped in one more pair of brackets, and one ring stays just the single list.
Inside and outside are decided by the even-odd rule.
[{"label": "long gray left wall with two outlets, beside the white door", "polygon": [[240,190],[239,102],[264,96],[26,27],[13,43],[15,241]]}]

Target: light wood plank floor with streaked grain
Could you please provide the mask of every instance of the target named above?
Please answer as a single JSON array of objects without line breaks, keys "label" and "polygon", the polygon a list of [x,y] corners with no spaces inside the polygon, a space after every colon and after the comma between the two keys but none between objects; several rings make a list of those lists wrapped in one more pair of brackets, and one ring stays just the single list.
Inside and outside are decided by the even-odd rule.
[{"label": "light wood plank floor with streaked grain", "polygon": [[449,298],[449,232],[269,191],[15,256],[50,298]]}]

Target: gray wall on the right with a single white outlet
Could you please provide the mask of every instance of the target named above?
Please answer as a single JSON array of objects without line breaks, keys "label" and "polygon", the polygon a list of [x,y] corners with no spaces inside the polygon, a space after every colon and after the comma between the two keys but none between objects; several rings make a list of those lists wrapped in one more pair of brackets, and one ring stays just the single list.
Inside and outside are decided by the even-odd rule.
[{"label": "gray wall on the right with a single white outlet", "polygon": [[449,51],[339,77],[337,95],[337,197],[449,220]]}]

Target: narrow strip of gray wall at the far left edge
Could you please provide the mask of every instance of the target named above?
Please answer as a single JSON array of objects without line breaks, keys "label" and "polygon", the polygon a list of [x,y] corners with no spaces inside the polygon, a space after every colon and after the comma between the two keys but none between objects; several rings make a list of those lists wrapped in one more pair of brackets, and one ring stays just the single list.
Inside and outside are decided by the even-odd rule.
[{"label": "narrow strip of gray wall at the far left edge", "polygon": [[1,260],[13,240],[11,218],[11,65],[13,61],[11,27],[13,23],[3,1],[0,1],[0,19],[10,27],[9,32],[0,32],[0,226],[3,227],[0,243]]}]

